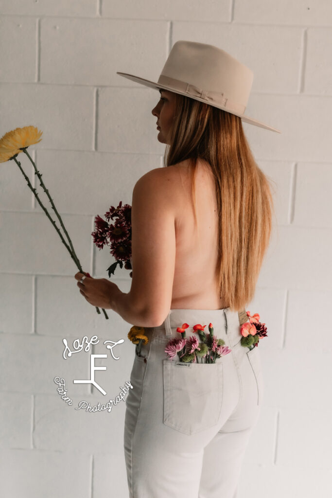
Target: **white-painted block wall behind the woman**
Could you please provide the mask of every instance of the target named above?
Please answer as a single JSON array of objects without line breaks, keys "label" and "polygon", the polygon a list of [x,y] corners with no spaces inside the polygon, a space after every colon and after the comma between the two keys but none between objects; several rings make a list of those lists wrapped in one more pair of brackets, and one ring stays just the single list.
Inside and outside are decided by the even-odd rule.
[{"label": "white-painted block wall behind the woman", "polygon": [[[331,1],[2,0],[0,12],[0,135],[30,124],[43,131],[30,154],[81,264],[98,277],[111,259],[92,244],[94,216],[131,203],[134,183],[162,165],[164,152],[151,115],[157,92],[116,71],[155,81],[180,39],[217,45],[254,71],[246,114],[282,134],[243,123],[276,182],[277,224],[248,307],[268,327],[265,402],[238,498],[331,497]],[[124,403],[111,414],[74,412],[53,382],[88,374],[90,355],[62,358],[62,338],[85,334],[125,339],[121,362],[96,362],[108,367],[110,397],[129,379],[129,326],[86,304],[76,271],[16,164],[0,163],[3,496],[128,496]],[[127,271],[112,279],[129,290]],[[69,392],[100,400],[84,384]]]}]

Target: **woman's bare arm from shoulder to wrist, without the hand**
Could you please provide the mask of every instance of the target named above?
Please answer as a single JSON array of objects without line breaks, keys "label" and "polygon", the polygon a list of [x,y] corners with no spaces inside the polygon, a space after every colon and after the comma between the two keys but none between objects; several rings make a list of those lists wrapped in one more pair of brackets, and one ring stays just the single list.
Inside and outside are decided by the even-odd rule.
[{"label": "woman's bare arm from shoulder to wrist, without the hand", "polygon": [[121,292],[114,296],[112,309],[137,326],[161,325],[171,306],[175,269],[175,182],[169,168],[156,168],[143,175],[133,189],[131,288],[128,294]]}]

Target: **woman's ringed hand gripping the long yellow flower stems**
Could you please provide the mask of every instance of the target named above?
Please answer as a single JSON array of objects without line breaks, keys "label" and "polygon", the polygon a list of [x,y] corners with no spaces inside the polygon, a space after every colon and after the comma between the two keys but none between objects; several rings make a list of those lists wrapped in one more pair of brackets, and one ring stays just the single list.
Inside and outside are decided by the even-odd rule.
[{"label": "woman's ringed hand gripping the long yellow flower stems", "polygon": [[76,280],[81,280],[84,275],[86,275],[86,278],[83,283],[77,282],[81,294],[92,306],[112,309],[111,303],[114,296],[121,293],[118,286],[106,278],[93,278],[88,272],[81,273],[78,271],[74,276]]}]

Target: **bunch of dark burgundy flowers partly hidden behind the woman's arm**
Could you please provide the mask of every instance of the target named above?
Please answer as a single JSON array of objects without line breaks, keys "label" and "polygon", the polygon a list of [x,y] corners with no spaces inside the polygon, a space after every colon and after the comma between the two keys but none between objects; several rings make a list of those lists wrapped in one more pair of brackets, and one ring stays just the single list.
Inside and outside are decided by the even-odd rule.
[{"label": "bunch of dark burgundy flowers partly hidden behind the woman's arm", "polygon": [[[105,213],[107,221],[99,215],[95,217],[95,231],[91,233],[94,243],[98,249],[103,249],[105,245],[111,248],[110,253],[115,258],[115,262],[107,268],[109,277],[114,274],[116,265],[118,264],[126,270],[131,270],[131,206],[119,202],[118,206],[110,207],[110,210]],[[110,220],[114,223],[109,223]],[[132,277],[132,271],[129,276]]]}]

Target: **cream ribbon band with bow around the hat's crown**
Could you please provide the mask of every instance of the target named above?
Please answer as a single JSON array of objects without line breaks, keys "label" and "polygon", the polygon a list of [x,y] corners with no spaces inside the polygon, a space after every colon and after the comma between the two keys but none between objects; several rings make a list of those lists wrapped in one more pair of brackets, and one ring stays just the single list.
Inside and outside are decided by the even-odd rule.
[{"label": "cream ribbon band with bow around the hat's crown", "polygon": [[193,97],[200,97],[203,100],[215,102],[229,111],[234,113],[243,114],[245,111],[245,106],[232,101],[231,99],[224,97],[222,92],[213,92],[212,90],[203,90],[202,88],[196,87],[190,83],[185,83],[181,80],[176,80],[175,78],[169,78],[168,76],[160,75],[158,79],[160,85],[174,87],[174,89],[180,92],[187,93]]}]

